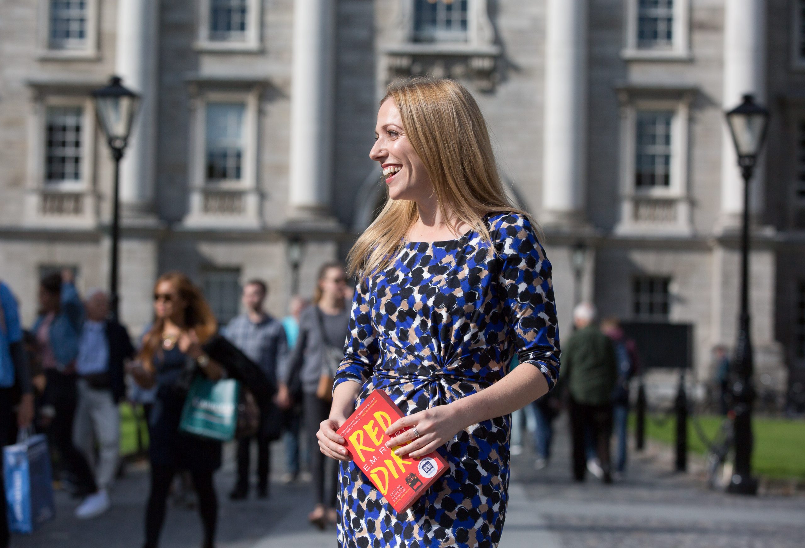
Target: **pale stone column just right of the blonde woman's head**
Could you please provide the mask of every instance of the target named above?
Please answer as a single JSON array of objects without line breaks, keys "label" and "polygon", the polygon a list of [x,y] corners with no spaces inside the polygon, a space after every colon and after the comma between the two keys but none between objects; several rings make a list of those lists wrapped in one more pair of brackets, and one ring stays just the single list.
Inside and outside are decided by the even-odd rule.
[{"label": "pale stone column just right of the blonde woman's head", "polygon": [[584,222],[587,18],[587,0],[547,2],[542,217],[546,225]]}]

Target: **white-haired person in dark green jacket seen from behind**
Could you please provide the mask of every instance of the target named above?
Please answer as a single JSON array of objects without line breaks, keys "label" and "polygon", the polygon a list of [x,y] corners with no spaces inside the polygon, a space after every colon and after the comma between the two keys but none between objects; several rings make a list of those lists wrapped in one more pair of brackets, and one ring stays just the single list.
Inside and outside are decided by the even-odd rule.
[{"label": "white-haired person in dark green jacket seen from behind", "polygon": [[617,380],[615,347],[595,323],[596,309],[581,303],[573,310],[576,332],[562,351],[559,382],[569,396],[573,445],[573,478],[584,481],[587,469],[585,432],[592,433],[604,483],[612,483],[609,438],[612,435],[612,392]]}]

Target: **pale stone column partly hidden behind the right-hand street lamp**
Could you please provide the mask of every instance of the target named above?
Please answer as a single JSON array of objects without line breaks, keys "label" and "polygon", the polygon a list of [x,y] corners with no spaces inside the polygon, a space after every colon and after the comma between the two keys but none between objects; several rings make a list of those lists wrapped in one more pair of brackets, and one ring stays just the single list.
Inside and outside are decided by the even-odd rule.
[{"label": "pale stone column partly hidden behind the right-hand street lamp", "polygon": [[[733,109],[745,93],[766,104],[766,0],[725,2],[724,95],[722,105]],[[755,169],[749,210],[762,211],[764,169]],[[724,126],[721,146],[721,215],[723,225],[737,225],[744,208],[743,179],[735,146]]]}]

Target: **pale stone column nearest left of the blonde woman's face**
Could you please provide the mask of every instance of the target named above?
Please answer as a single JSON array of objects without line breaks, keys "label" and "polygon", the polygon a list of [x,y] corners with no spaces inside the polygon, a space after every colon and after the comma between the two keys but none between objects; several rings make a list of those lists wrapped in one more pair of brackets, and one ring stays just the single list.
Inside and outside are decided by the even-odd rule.
[{"label": "pale stone column nearest left of the blonde woman's face", "polygon": [[294,2],[289,195],[295,217],[321,216],[330,202],[335,19],[332,0]]}]

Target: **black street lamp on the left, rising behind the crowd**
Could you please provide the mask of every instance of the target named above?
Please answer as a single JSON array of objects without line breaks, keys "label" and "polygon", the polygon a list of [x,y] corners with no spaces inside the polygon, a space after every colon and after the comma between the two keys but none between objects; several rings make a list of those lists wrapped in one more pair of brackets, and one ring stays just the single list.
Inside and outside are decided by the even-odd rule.
[{"label": "black street lamp on the left, rising behind the crowd", "polygon": [[98,123],[109,143],[114,159],[112,196],[112,251],[109,260],[109,311],[118,318],[118,241],[120,239],[120,160],[129,141],[140,97],[122,85],[119,76],[109,78],[109,85],[96,89],[92,96]]}]

